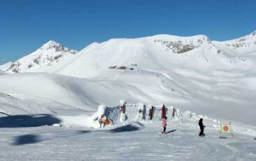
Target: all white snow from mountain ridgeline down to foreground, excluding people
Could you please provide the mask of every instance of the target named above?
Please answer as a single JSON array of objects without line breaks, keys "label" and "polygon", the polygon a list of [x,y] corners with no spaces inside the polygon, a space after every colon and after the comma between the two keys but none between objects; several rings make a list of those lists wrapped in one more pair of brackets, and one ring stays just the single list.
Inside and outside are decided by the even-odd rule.
[{"label": "all white snow from mountain ridgeline down to foreground, excluding people", "polygon": [[[1,160],[255,160],[255,41],[154,35],[79,52],[47,42],[0,66]],[[103,114],[111,125],[99,128]],[[234,135],[219,138],[230,121]]]}]

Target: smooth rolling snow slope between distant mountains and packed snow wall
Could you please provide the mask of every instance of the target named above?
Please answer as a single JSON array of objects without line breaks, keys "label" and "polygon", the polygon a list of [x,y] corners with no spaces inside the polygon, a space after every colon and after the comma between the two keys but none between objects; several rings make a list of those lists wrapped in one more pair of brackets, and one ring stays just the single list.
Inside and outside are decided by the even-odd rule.
[{"label": "smooth rolling snow slope between distant mountains and packed snow wall", "polygon": [[[3,74],[0,76],[0,91],[15,99],[30,100],[22,107],[38,110],[27,110],[27,114],[52,114],[50,111],[56,112],[54,106],[93,112],[100,104],[115,105],[120,99],[126,99],[130,103],[165,103],[181,110],[255,126],[254,77],[230,71],[215,71],[214,76],[205,76],[181,69],[172,74],[142,69],[107,71],[105,74],[101,78],[46,73]],[[36,100],[44,101],[34,103]],[[6,112],[25,114],[10,110],[9,104],[0,102]]]}]

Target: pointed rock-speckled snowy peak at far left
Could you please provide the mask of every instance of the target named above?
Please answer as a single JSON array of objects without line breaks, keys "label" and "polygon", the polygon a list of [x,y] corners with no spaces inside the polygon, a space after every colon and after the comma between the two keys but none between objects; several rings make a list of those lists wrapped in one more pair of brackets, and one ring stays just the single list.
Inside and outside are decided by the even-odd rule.
[{"label": "pointed rock-speckled snowy peak at far left", "polygon": [[41,71],[72,57],[76,53],[77,51],[50,40],[28,56],[9,64],[8,69],[4,69],[4,71],[8,73]]}]

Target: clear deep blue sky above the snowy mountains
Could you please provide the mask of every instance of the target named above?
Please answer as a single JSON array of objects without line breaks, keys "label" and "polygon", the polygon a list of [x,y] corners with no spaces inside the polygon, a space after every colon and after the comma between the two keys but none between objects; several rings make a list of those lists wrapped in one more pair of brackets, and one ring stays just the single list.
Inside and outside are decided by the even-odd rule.
[{"label": "clear deep blue sky above the snowy mountains", "polygon": [[204,34],[230,40],[255,30],[255,0],[1,0],[0,64],[49,40],[81,50],[119,37]]}]

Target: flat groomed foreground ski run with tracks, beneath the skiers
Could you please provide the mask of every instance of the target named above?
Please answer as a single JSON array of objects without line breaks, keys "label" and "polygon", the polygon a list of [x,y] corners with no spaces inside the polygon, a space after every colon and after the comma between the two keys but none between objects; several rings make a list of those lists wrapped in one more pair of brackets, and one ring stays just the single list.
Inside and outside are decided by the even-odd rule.
[{"label": "flat groomed foreground ski run with tracks, beneath the skiers", "polygon": [[[124,127],[124,128],[123,128]],[[197,137],[193,128],[170,123],[129,124],[91,129],[41,126],[1,128],[0,160],[255,160],[256,144],[248,137],[228,139],[207,130]],[[253,139],[253,138],[252,138]]]}]

